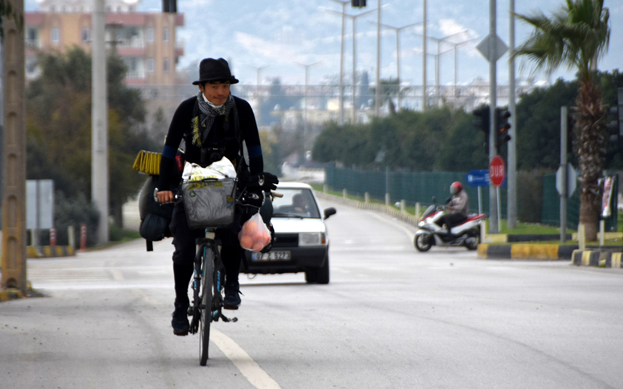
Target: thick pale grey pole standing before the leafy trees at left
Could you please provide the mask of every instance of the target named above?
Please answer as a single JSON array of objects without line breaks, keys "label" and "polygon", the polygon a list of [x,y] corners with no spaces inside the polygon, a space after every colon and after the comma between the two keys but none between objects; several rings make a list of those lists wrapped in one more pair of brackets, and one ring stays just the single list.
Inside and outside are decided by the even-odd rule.
[{"label": "thick pale grey pole standing before the leafy trees at left", "polygon": [[91,200],[100,213],[97,243],[108,242],[108,104],[104,0],[95,0],[92,39]]}]

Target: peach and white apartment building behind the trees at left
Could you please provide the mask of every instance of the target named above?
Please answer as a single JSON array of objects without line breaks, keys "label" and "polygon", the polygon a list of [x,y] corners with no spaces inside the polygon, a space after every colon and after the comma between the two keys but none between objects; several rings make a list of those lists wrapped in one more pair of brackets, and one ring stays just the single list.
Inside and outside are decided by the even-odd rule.
[{"label": "peach and white apartment building behind the trees at left", "polygon": [[[183,14],[137,12],[140,0],[106,0],[106,41],[128,65],[128,85],[179,83],[176,63],[184,47],[176,40]],[[63,52],[74,45],[91,51],[90,0],[44,0],[26,12],[26,77],[37,77],[39,52]]]}]

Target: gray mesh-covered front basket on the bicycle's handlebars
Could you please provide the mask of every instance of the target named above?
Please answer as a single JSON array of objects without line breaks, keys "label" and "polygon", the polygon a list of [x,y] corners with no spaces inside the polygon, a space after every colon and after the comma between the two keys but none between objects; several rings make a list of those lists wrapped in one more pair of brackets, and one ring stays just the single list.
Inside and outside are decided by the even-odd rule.
[{"label": "gray mesh-covered front basket on the bicycle's handlebars", "polygon": [[234,179],[183,181],[184,211],[190,228],[226,227],[234,221]]}]

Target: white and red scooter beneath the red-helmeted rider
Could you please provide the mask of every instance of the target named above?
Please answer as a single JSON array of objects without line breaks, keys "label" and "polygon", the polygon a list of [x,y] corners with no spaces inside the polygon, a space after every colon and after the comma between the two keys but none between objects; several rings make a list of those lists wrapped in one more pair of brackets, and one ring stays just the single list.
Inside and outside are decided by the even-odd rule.
[{"label": "white and red scooter beneath the red-helmeted rider", "polygon": [[[428,251],[433,245],[437,246],[465,246],[467,250],[476,250],[480,241],[480,225],[485,220],[485,214],[473,214],[467,217],[465,222],[445,231],[440,224],[440,219],[448,210],[445,205],[430,205],[420,222],[420,228],[416,232],[413,240],[414,245],[419,251]],[[438,223],[439,222],[439,223]]]}]

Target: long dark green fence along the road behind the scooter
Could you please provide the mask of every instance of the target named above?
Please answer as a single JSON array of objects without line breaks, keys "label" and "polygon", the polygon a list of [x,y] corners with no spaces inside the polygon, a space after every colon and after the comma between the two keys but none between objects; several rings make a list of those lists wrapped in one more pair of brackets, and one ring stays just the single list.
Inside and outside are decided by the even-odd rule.
[{"label": "long dark green fence along the road behind the scooter", "polygon": [[[391,202],[406,200],[408,205],[419,202],[422,205],[432,204],[432,197],[436,197],[437,204],[443,204],[450,196],[450,184],[459,181],[470,197],[470,211],[478,212],[478,190],[465,184],[467,172],[407,172],[407,171],[369,171],[359,169],[345,169],[335,166],[326,166],[326,185],[333,190],[346,189],[348,193],[363,196],[366,192],[374,199],[384,200],[386,192]],[[518,192],[530,191],[530,187],[521,187],[518,182]],[[560,197],[556,190],[556,174],[545,174],[542,178],[541,223],[559,225]],[[618,180],[615,179],[613,193],[618,192]],[[489,213],[489,188],[482,187],[482,210]],[[617,196],[613,195],[613,207],[617,209]],[[502,218],[506,218],[506,187],[500,187]],[[518,205],[521,206],[521,205]],[[521,212],[519,212],[520,214]],[[606,230],[617,230],[617,212],[606,220]],[[567,202],[567,227],[576,229],[579,221],[579,188]]]}]

